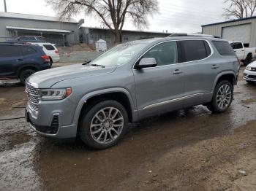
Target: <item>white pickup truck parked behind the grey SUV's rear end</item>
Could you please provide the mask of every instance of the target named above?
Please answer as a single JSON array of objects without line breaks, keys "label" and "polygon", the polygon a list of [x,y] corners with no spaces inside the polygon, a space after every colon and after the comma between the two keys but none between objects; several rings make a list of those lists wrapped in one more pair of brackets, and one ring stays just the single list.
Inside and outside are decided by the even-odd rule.
[{"label": "white pickup truck parked behind the grey SUV's rear end", "polygon": [[252,58],[255,58],[256,47],[244,47],[243,42],[230,42],[230,45],[244,65],[251,63]]}]

